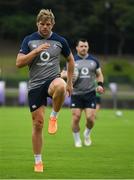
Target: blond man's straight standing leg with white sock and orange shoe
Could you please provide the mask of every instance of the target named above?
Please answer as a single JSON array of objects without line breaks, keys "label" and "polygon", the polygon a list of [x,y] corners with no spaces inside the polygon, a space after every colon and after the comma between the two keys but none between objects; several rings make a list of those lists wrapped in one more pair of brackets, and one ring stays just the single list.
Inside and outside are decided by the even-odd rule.
[{"label": "blond man's straight standing leg with white sock and orange shoe", "polygon": [[33,129],[32,129],[32,144],[35,157],[35,172],[43,172],[42,164],[42,129],[44,124],[44,106],[39,107],[32,112]]}]

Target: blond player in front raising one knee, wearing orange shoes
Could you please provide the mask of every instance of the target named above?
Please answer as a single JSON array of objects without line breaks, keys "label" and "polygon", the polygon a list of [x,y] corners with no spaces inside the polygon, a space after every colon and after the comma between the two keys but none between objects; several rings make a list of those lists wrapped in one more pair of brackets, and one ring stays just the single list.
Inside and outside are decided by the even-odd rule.
[{"label": "blond player in front raising one knee, wearing orange shoes", "polygon": [[[48,132],[57,131],[57,114],[64,102],[66,91],[72,92],[74,58],[67,41],[52,32],[55,17],[51,10],[42,9],[37,15],[38,31],[26,36],[16,59],[16,66],[29,66],[28,99],[33,121],[32,144],[35,156],[35,172],[43,172],[41,157],[42,129],[47,96],[52,97],[53,110]],[[60,78],[60,55],[68,61],[67,83]]]}]

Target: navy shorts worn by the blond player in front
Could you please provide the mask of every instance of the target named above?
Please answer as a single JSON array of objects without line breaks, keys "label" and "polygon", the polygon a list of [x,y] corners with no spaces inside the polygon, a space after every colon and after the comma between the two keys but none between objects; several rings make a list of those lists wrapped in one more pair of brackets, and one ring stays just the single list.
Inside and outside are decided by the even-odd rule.
[{"label": "navy shorts worn by the blond player in front", "polygon": [[28,92],[28,103],[31,112],[35,111],[42,105],[44,106],[47,105],[47,97],[51,97],[48,94],[48,88],[52,81],[53,79],[48,80],[44,84],[42,84],[39,88],[31,89]]}]

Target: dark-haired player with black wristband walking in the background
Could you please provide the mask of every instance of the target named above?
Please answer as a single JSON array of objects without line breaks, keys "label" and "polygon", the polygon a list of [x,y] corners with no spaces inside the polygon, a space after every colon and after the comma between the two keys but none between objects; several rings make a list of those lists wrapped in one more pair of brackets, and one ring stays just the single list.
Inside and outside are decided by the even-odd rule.
[{"label": "dark-haired player with black wristband walking in the background", "polygon": [[[88,54],[89,44],[87,40],[81,39],[77,42],[77,54],[75,59],[74,88],[71,95],[72,108],[72,131],[75,147],[81,147],[80,119],[84,110],[86,116],[86,128],[84,131],[84,144],[91,145],[90,133],[94,126],[96,112],[96,91],[103,93],[103,74],[98,60]],[[77,74],[76,74],[77,72]],[[66,77],[66,71],[61,72]],[[96,88],[95,80],[98,83]]]}]

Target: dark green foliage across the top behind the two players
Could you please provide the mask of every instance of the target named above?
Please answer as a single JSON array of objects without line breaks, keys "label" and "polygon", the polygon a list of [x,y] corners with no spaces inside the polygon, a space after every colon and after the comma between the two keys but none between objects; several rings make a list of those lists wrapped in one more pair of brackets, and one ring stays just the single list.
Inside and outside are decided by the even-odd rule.
[{"label": "dark green foliage across the top behind the two players", "polygon": [[105,53],[106,45],[109,53],[133,53],[128,42],[134,40],[133,0],[83,0],[77,3],[74,0],[2,1],[0,36],[15,40],[33,32],[41,8],[52,9],[56,17],[56,32],[72,43],[83,37],[95,44],[97,53]]}]

